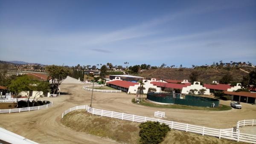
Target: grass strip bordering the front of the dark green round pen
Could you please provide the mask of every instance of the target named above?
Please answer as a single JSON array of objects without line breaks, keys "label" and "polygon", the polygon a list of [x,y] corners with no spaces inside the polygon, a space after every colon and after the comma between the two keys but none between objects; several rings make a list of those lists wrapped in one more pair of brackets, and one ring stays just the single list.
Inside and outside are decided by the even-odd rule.
[{"label": "grass strip bordering the front of the dark green round pen", "polygon": [[[137,104],[135,102],[135,99],[133,98],[132,103]],[[138,105],[143,105],[147,107],[159,107],[159,108],[169,108],[169,109],[192,109],[192,110],[215,110],[215,111],[221,111],[221,110],[230,110],[232,109],[230,106],[219,104],[218,107],[194,107],[194,106],[186,106],[186,105],[179,105],[179,104],[154,104],[149,101],[146,101],[145,98],[143,98],[143,101],[140,102]]]}]

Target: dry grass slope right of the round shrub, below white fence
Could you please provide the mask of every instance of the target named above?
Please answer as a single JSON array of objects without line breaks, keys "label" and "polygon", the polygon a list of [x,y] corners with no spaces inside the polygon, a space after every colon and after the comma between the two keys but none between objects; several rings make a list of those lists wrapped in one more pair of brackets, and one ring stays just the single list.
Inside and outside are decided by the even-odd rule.
[{"label": "dry grass slope right of the round shrub, below white fence", "polygon": [[161,144],[244,144],[241,142],[203,136],[192,132],[171,130]]}]

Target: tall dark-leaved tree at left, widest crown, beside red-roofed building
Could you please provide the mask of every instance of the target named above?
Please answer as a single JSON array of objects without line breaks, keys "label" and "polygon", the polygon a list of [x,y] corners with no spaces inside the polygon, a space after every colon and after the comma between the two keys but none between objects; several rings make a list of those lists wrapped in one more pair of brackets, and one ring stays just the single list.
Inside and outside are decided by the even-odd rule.
[{"label": "tall dark-leaved tree at left, widest crown, beside red-roofed building", "polygon": [[52,78],[51,88],[53,89],[53,94],[55,94],[59,85],[61,85],[62,81],[64,81],[64,79],[71,74],[71,71],[64,66],[55,65],[47,66],[46,70],[49,73],[49,76]]}]

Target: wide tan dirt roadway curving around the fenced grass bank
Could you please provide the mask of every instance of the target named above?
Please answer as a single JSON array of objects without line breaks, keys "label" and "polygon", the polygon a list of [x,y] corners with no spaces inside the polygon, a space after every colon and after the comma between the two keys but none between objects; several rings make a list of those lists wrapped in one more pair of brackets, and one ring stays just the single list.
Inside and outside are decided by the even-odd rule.
[{"label": "wide tan dirt roadway curving around the fenced grass bank", "polygon": [[[69,80],[61,84],[61,91],[69,95],[61,95],[59,98],[42,98],[53,101],[53,107],[31,112],[0,114],[0,127],[41,144],[116,143],[111,139],[70,130],[61,124],[62,112],[71,107],[90,104],[91,92],[82,89],[84,84],[71,83],[72,80]],[[165,119],[168,120],[221,129],[235,127],[239,120],[256,119],[256,106],[251,104],[242,103],[242,109],[213,112],[148,108],[132,104],[131,98],[134,98],[134,95],[123,92],[93,92],[93,107],[148,117],[154,117],[154,112],[159,110],[166,112]],[[229,103],[230,101],[221,101],[221,104],[228,105]]]}]

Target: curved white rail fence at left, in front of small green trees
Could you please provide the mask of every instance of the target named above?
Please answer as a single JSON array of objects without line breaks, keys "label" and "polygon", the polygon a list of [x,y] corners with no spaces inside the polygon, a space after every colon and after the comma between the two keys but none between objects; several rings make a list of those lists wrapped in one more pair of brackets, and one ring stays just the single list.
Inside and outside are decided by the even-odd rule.
[{"label": "curved white rail fence at left, in front of small green trees", "polygon": [[25,112],[25,111],[31,111],[31,110],[45,109],[45,108],[51,107],[52,105],[53,103],[46,104],[43,106],[38,106],[38,107],[25,107],[25,108],[18,108],[18,109],[0,109],[0,113]]}]

